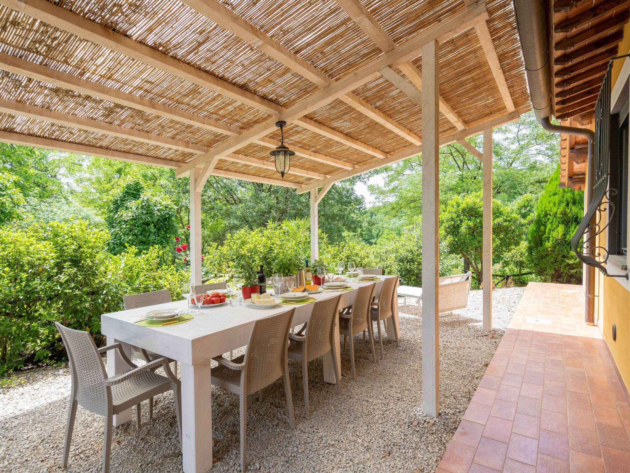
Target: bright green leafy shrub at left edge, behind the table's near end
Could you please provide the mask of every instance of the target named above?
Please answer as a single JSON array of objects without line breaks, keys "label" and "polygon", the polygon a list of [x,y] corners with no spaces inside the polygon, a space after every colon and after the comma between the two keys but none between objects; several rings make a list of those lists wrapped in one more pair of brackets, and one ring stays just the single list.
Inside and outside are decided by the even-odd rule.
[{"label": "bright green leafy shrub at left edge, behind the table's near end", "polygon": [[88,330],[102,344],[102,313],[122,296],[168,288],[179,298],[188,273],[161,266],[160,248],[107,252],[106,231],[86,221],[0,228],[0,375],[66,359],[54,321]]}]

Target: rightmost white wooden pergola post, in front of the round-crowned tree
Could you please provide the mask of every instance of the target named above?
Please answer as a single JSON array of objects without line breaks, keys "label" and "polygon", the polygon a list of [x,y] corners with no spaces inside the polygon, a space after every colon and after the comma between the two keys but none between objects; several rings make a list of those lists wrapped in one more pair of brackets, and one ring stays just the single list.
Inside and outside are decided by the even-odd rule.
[{"label": "rightmost white wooden pergola post, in front of the round-crowned tree", "polygon": [[492,330],[492,129],[483,132],[483,329]]}]

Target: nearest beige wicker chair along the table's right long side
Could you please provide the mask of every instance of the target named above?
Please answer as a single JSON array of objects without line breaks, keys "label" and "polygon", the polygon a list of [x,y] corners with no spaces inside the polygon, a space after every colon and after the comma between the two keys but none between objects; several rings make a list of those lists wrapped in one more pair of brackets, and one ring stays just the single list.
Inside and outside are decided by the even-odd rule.
[{"label": "nearest beige wicker chair along the table's right long side", "polygon": [[245,354],[232,361],[222,356],[212,358],[219,363],[219,366],[210,371],[212,384],[238,394],[241,398],[241,472],[245,471],[245,436],[250,394],[258,392],[261,398],[262,390],[282,377],[289,406],[289,425],[294,428],[287,359],[289,327],[294,312],[295,309],[291,309],[256,320]]}]

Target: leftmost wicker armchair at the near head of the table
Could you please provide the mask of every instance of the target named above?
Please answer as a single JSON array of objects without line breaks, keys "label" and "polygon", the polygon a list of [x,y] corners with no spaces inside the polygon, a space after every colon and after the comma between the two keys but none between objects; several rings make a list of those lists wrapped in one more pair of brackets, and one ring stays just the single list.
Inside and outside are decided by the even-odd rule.
[{"label": "leftmost wicker armchair at the near head of the table", "polygon": [[[68,464],[74,418],[77,404],[105,417],[105,437],[103,438],[103,473],[110,467],[112,450],[113,416],[120,414],[143,400],[173,391],[175,398],[175,416],[181,445],[181,382],[175,377],[167,358],[157,358],[146,365],[136,366],[127,358],[120,343],[96,348],[88,332],[64,327],[55,322],[55,326],[66,346],[72,373],[70,406],[64,440],[63,467]],[[120,357],[132,368],[119,375],[108,378],[101,354],[108,350],[118,350]],[[166,377],[154,373],[154,368],[164,368]]]}]

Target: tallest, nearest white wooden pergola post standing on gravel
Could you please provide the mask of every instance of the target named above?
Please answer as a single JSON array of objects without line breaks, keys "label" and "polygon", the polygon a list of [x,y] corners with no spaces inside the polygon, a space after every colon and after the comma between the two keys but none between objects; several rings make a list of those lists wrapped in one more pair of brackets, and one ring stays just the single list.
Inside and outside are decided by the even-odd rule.
[{"label": "tallest, nearest white wooden pergola post standing on gravel", "polygon": [[440,414],[439,235],[440,123],[439,45],[422,47],[422,410]]}]

